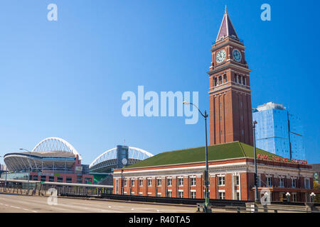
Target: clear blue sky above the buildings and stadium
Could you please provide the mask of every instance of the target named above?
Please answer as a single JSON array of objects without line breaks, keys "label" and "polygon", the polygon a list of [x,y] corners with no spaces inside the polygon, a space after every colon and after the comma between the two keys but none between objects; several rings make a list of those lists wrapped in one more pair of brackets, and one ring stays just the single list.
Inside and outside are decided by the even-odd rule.
[{"label": "clear blue sky above the buildings and stadium", "polygon": [[[47,6],[58,6],[48,21]],[[260,6],[271,6],[271,21]],[[211,43],[225,4],[252,69],[252,107],[274,101],[302,118],[320,163],[319,1],[65,1],[0,4],[0,155],[68,140],[90,164],[116,145],[157,154],[205,144],[204,122],[124,118],[123,92],[198,91],[209,110]],[[2,162],[2,159],[1,159]]]}]

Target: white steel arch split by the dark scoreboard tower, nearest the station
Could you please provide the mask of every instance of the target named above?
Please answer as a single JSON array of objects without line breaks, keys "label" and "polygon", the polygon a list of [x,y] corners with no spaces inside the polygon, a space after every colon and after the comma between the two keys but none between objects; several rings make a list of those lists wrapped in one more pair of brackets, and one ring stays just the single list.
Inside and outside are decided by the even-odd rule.
[{"label": "white steel arch split by the dark scoreboard tower, nearest the station", "polygon": [[[154,156],[151,153],[147,152],[146,150],[142,150],[140,148],[134,148],[134,147],[129,147],[128,153],[129,153],[128,154],[129,158],[137,159],[137,160],[144,160],[148,157]],[[104,153],[99,155],[95,160],[93,160],[89,165],[89,168],[99,164],[100,162],[105,162],[107,160],[116,159],[116,158],[117,158],[117,148],[112,148],[110,150],[105,151]]]}]

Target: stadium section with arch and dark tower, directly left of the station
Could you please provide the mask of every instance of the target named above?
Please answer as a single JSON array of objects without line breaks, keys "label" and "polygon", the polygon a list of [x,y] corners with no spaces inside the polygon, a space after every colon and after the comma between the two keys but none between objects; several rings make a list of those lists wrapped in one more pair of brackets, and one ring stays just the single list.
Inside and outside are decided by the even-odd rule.
[{"label": "stadium section with arch and dark tower, directly left of the station", "polygon": [[113,184],[113,170],[132,165],[146,158],[151,153],[140,148],[117,145],[116,148],[105,151],[89,165],[90,175],[94,175],[95,184]]}]

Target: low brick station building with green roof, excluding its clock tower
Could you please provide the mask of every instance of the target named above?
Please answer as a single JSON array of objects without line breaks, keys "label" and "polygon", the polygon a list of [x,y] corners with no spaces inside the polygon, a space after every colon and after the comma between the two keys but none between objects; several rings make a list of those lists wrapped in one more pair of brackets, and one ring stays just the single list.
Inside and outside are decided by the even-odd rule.
[{"label": "low brick station building with green roof, excluding its clock tower", "polygon": [[[114,194],[204,198],[205,148],[160,153],[114,170]],[[233,142],[208,146],[210,199],[255,199],[253,147]],[[257,149],[258,190],[272,201],[310,201],[313,171],[305,162],[285,160]],[[263,157],[263,159],[262,159]],[[262,194],[261,194],[262,192]]]}]

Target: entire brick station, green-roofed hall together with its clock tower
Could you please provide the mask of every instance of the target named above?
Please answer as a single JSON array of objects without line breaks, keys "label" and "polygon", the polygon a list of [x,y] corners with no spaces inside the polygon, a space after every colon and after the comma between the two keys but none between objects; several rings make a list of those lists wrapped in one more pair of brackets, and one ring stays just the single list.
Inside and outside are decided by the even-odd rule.
[{"label": "entire brick station, green-roofed hall together with its clock tower", "polygon": [[[210,63],[210,146],[208,164],[211,199],[254,200],[254,158],[250,72],[245,45],[227,9],[213,43]],[[114,170],[114,194],[204,198],[205,148],[160,153],[124,169]],[[258,190],[272,201],[309,201],[311,165],[257,149]]]}]

